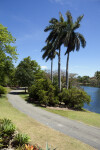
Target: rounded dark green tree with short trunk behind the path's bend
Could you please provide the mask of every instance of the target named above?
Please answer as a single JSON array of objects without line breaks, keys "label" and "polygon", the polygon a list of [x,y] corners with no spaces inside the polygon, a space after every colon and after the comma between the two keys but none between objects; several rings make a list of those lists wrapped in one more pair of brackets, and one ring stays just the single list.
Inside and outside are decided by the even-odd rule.
[{"label": "rounded dark green tree with short trunk behind the path's bend", "polygon": [[33,84],[33,81],[40,75],[40,66],[35,60],[31,60],[30,57],[24,58],[16,68],[16,79],[19,86],[29,87]]}]

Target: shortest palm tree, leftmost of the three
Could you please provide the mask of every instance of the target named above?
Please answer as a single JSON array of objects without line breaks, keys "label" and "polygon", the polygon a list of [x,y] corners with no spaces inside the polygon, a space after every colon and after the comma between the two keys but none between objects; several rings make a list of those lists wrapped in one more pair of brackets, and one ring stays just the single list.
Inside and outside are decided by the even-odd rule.
[{"label": "shortest palm tree, leftmost of the three", "polygon": [[53,59],[55,58],[57,52],[56,51],[51,51],[52,49],[52,44],[48,43],[46,46],[42,48],[41,51],[43,51],[42,58],[46,59],[48,61],[49,59],[51,60],[51,81],[53,83]]}]

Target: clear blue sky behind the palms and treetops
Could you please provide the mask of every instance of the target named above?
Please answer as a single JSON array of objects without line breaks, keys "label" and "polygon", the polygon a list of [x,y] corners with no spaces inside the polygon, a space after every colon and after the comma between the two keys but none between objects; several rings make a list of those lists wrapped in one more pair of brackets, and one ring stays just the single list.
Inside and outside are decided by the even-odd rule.
[{"label": "clear blue sky behind the palms and treetops", "polygon": [[[49,33],[44,32],[51,18],[59,19],[59,12],[66,20],[65,13],[70,11],[73,20],[83,15],[81,26],[77,30],[84,35],[86,47],[79,52],[71,52],[69,73],[80,76],[94,76],[100,71],[100,0],[0,0],[0,23],[8,27],[16,38],[18,60],[30,56],[42,69],[50,69],[50,61],[42,59],[41,49]],[[65,70],[66,47],[61,47],[61,69]],[[54,59],[53,69],[58,68],[58,58]]]}]

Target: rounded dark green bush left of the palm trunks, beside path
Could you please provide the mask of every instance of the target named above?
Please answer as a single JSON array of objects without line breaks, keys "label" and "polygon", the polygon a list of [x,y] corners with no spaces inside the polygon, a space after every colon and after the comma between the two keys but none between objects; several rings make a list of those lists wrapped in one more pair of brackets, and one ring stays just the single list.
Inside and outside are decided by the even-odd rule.
[{"label": "rounded dark green bush left of the palm trunks, beside path", "polygon": [[39,104],[44,104],[45,106],[57,103],[55,88],[48,78],[36,80],[34,85],[29,88],[29,97],[33,98],[33,101],[38,101]]}]

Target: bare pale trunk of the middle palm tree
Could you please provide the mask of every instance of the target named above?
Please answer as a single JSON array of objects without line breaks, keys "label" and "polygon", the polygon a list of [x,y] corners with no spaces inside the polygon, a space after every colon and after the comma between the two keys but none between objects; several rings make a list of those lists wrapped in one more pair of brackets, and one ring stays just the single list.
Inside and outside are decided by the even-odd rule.
[{"label": "bare pale trunk of the middle palm tree", "polygon": [[59,48],[59,54],[58,54],[58,87],[59,87],[59,91],[61,92],[61,58],[60,58],[60,52],[61,52],[61,49]]}]

